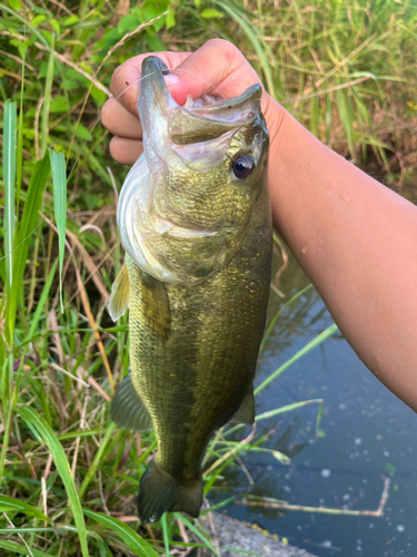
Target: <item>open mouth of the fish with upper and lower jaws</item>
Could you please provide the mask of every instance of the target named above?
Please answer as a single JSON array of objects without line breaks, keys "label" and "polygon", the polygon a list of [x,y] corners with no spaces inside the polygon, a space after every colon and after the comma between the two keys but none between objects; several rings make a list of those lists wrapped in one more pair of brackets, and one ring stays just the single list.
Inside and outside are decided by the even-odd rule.
[{"label": "open mouth of the fish with upper and lower jaws", "polygon": [[168,123],[165,129],[169,136],[166,137],[167,140],[177,145],[208,141],[237,128],[252,127],[259,121],[262,95],[260,85],[252,85],[232,99],[205,96],[198,101],[190,99],[185,106],[179,106],[163,79],[169,72],[168,66],[158,57],[146,58],[141,69],[145,79],[141,81],[138,101],[145,128],[149,123],[149,115],[159,115]]}]

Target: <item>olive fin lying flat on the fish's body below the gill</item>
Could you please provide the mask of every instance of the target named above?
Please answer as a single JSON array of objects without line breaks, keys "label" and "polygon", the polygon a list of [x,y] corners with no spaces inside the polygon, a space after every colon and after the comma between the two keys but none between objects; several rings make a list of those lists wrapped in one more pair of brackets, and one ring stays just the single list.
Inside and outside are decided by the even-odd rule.
[{"label": "olive fin lying flat on the fish's body below the gill", "polygon": [[171,331],[171,312],[163,283],[142,272],[141,297],[148,326],[159,340],[167,341]]}]

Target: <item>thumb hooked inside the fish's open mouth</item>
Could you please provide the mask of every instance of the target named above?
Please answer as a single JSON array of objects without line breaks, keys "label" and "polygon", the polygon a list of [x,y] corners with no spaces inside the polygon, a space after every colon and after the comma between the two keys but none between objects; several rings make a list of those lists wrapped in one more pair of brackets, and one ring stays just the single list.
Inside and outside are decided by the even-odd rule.
[{"label": "thumb hooked inside the fish's open mouth", "polygon": [[173,99],[183,105],[187,96],[232,98],[261,81],[240,50],[231,42],[212,39],[189,55],[166,76]]}]

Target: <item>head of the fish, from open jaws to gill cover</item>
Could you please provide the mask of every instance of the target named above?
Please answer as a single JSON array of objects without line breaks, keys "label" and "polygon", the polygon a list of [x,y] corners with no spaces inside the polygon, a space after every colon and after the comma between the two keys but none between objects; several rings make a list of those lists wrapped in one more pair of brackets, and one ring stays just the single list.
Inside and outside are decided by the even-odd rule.
[{"label": "head of the fish, from open jaws to gill cover", "polygon": [[142,62],[138,111],[143,154],[120,195],[125,248],[163,282],[192,284],[220,270],[245,242],[265,189],[269,135],[261,87],[179,106],[157,57]]}]

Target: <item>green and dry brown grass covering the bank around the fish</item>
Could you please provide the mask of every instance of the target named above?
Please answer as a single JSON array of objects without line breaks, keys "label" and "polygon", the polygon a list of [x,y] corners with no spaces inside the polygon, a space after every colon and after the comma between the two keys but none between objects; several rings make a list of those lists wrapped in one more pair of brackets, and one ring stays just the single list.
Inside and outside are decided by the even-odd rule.
[{"label": "green and dry brown grass covering the bank around the fish", "polygon": [[[117,430],[109,421],[113,383],[128,367],[127,320],[115,326],[107,314],[122,260],[115,216],[126,168],[110,160],[107,131],[95,125],[120,62],[142,51],[232,38],[314,134],[357,162],[375,159],[414,195],[411,1],[377,0],[371,10],[365,0],[126,6],[0,4],[1,556],[151,556],[173,548],[186,555],[212,545],[198,522],[179,514],[138,530],[133,500],[155,436]],[[334,332],[330,326],[307,343],[257,392]],[[318,404],[320,434],[321,400],[288,404],[257,421],[306,404]],[[269,450],[259,434],[237,441],[241,429],[228,427],[210,444],[208,498],[238,458]]]}]

